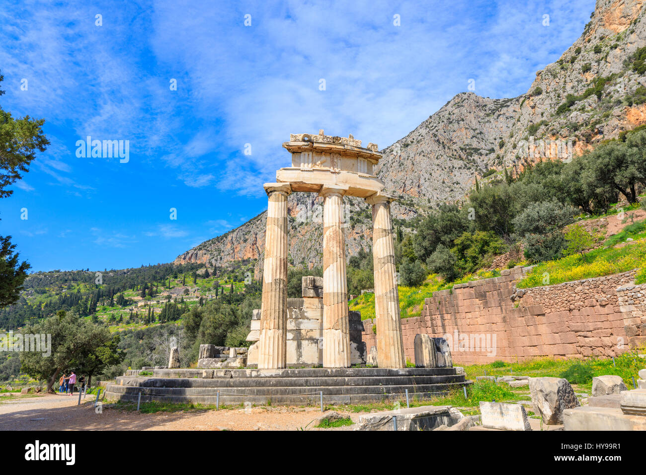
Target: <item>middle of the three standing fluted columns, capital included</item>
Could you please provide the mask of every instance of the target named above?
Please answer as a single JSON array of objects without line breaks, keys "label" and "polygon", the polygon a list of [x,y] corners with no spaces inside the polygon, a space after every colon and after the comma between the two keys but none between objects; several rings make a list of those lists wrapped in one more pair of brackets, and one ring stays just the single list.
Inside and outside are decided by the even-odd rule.
[{"label": "middle of the three standing fluted columns, capital included", "polygon": [[342,189],[323,187],[323,366],[350,366]]}]

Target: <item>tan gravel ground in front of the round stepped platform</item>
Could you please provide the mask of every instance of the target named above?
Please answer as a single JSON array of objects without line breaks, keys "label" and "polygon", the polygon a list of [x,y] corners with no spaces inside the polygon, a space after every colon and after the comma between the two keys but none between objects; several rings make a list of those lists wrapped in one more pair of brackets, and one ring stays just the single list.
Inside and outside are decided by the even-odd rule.
[{"label": "tan gravel ground in front of the round stepped platform", "polygon": [[[321,415],[317,408],[254,407],[140,414],[109,405],[97,414],[93,396],[81,405],[78,396],[44,394],[4,400],[0,397],[0,430],[307,430]],[[355,423],[360,414],[339,412]],[[311,424],[310,424],[311,423]],[[346,426],[329,430],[352,430]],[[318,430],[318,429],[314,429]]]}]

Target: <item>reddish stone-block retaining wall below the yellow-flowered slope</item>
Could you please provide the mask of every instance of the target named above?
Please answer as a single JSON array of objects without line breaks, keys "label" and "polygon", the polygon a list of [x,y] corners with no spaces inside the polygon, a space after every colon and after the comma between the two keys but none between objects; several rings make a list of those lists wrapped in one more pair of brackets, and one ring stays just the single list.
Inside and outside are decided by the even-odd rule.
[{"label": "reddish stone-block retaining wall below the yellow-flowered slope", "polygon": [[[626,287],[636,271],[517,290],[526,270],[516,266],[435,292],[420,317],[402,320],[406,359],[415,362],[417,333],[445,337],[455,364],[610,357],[646,343],[646,286]],[[373,324],[364,321],[368,350],[376,344]]]}]

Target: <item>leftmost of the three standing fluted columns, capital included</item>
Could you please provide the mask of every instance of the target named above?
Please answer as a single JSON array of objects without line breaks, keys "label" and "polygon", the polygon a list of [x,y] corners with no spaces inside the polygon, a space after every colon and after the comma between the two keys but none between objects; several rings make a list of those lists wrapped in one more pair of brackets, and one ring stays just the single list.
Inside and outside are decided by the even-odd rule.
[{"label": "leftmost of the three standing fluted columns, capital included", "polygon": [[287,195],[285,183],[266,183],[269,196],[262,277],[258,369],[287,367]]}]

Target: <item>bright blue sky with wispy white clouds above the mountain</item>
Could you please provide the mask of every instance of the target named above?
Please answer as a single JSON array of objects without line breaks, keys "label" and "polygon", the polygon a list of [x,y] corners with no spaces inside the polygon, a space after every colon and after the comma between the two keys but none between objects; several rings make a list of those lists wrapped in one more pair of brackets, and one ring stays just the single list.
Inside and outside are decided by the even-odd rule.
[{"label": "bright blue sky with wispy white clouds above the mountain", "polygon": [[[45,118],[52,143],[0,200],[0,235],[34,271],[170,262],[266,209],[262,184],[289,164],[290,133],[322,128],[383,148],[469,79],[481,96],[523,94],[593,9],[593,0],[3,0],[0,105]],[[78,157],[86,136],[129,140],[128,162]]]}]

